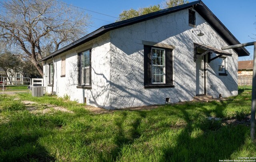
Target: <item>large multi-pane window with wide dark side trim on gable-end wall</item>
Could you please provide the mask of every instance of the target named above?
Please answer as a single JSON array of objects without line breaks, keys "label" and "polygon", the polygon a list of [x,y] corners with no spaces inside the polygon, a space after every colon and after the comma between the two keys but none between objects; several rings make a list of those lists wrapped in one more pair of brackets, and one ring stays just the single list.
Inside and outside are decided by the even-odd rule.
[{"label": "large multi-pane window with wide dark side trim on gable-end wall", "polygon": [[144,45],[144,87],[174,87],[172,75],[172,49]]}]

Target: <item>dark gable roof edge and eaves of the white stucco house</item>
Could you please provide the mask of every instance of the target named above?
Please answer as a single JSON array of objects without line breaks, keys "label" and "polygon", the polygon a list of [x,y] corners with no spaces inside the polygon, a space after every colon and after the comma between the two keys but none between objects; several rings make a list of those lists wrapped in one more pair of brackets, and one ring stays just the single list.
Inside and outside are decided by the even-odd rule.
[{"label": "dark gable roof edge and eaves of the white stucco house", "polygon": [[[180,6],[166,8],[164,10],[152,12],[150,14],[146,14],[146,15],[142,15],[142,16],[138,16],[138,17],[134,17],[134,18],[120,21],[120,22],[115,22],[112,24],[102,26],[99,29],[95,30],[94,32],[80,38],[79,40],[76,40],[63,48],[57,51],[54,51],[50,55],[38,60],[37,62],[41,62],[49,59],[52,56],[56,56],[61,53],[64,53],[65,51],[68,51],[74,47],[77,47],[87,41],[93,40],[94,38],[97,38],[105,34],[106,32],[109,32],[110,30],[122,28],[124,26],[129,26],[132,24],[136,24],[139,22],[143,22],[146,20],[150,20],[153,18],[171,14],[174,12],[178,12],[180,10],[184,10],[191,7],[193,7],[194,10],[196,10],[206,20],[206,22],[208,22],[210,26],[212,26],[212,28],[226,41],[226,43],[228,43],[228,45],[240,44],[240,42],[230,33],[230,31],[222,24],[222,22],[220,22],[220,20],[209,10],[209,8],[201,0],[198,0],[198,1],[187,3],[187,4],[182,4]],[[234,51],[238,53],[238,56],[250,55],[250,53],[244,47],[235,48]]]}]

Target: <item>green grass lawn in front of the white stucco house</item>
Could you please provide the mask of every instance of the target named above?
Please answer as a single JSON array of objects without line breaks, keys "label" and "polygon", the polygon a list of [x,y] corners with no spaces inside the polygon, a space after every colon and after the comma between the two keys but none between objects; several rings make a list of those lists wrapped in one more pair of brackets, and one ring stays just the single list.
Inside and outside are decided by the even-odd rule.
[{"label": "green grass lawn in front of the white stucco house", "polygon": [[[0,95],[0,161],[203,161],[255,157],[250,126],[209,121],[250,114],[250,90],[223,102],[164,105],[93,114],[62,98],[17,95],[73,113],[35,115]],[[242,112],[242,113],[241,113]]]}]

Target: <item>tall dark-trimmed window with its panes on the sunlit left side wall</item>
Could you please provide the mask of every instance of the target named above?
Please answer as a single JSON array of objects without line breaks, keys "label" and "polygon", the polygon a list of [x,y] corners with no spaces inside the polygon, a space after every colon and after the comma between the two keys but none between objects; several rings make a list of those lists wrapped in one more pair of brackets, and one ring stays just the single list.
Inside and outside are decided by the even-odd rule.
[{"label": "tall dark-trimmed window with its panes on the sunlit left side wall", "polygon": [[92,87],[92,49],[78,53],[78,86],[77,88],[91,89]]}]

